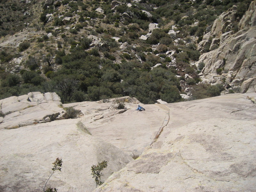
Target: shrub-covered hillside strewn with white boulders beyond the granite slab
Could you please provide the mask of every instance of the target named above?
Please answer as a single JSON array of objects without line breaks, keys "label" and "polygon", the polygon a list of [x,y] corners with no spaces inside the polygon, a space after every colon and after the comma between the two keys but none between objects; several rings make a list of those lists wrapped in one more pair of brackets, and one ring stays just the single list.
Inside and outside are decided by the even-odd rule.
[{"label": "shrub-covered hillside strewn with white boulders beyond the granite slab", "polygon": [[[12,0],[0,9],[0,99],[39,91],[64,103],[153,104],[255,92],[255,1]],[[241,34],[249,54],[233,46]]]}]

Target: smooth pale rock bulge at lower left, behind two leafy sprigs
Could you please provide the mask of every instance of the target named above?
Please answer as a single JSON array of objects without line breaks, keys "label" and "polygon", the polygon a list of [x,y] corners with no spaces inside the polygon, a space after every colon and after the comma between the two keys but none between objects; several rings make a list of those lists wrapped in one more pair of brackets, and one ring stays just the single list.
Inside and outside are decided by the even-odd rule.
[{"label": "smooth pale rock bulge at lower left, behind two leafy sprigs", "polygon": [[0,149],[1,191],[43,191],[57,157],[63,161],[61,172],[54,172],[46,188],[92,191],[96,188],[91,175],[93,164],[108,162],[101,178],[104,181],[132,160],[121,149],[86,134],[77,123],[76,119],[66,119],[0,130],[0,146],[8,146]]}]

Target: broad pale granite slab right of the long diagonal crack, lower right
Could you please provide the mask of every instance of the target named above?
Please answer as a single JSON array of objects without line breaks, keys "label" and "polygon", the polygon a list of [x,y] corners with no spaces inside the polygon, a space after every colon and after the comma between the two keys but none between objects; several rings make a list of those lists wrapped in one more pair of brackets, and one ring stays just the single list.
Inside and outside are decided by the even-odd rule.
[{"label": "broad pale granite slab right of the long diagonal crack, lower right", "polygon": [[170,120],[153,147],[94,191],[255,191],[255,97],[166,104]]}]

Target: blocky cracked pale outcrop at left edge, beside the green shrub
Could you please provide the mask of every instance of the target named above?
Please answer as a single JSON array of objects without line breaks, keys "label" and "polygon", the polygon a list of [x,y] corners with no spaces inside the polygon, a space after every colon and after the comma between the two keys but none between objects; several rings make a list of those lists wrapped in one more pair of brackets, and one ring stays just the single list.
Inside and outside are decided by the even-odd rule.
[{"label": "blocky cracked pale outcrop at left edge, beside the green shrub", "polygon": [[0,129],[37,124],[44,116],[60,114],[63,111],[60,104],[60,97],[55,92],[30,92],[0,100],[0,111],[5,114]]}]

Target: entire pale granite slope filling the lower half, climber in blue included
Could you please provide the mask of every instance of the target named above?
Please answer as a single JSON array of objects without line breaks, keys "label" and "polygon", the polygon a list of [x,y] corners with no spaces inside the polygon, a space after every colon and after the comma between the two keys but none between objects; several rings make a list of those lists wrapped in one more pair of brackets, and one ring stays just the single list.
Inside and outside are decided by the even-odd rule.
[{"label": "entire pale granite slope filling the lower half, climber in blue included", "polygon": [[[47,186],[59,191],[93,191],[90,169],[103,160],[105,183],[95,191],[255,191],[255,93],[143,105],[141,112],[130,97],[63,106],[54,93],[22,98],[0,100],[3,111],[14,108],[0,123],[1,191],[42,191],[56,157],[63,167]],[[35,105],[27,113],[26,102]],[[125,108],[116,109],[118,102]],[[78,118],[50,118],[71,106],[81,110]],[[10,118],[16,113],[20,126],[19,116]],[[133,160],[132,153],[142,155]]]}]

